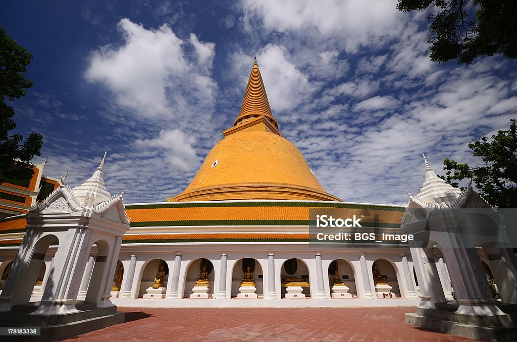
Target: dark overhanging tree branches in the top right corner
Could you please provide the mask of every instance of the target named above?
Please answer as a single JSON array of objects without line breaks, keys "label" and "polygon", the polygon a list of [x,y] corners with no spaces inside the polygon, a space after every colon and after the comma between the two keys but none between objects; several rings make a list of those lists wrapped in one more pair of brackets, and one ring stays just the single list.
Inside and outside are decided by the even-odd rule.
[{"label": "dark overhanging tree branches in the top right corner", "polygon": [[397,4],[403,12],[428,7],[433,7],[428,16],[432,61],[458,59],[458,64],[470,64],[479,55],[494,54],[517,58],[517,1],[399,0]]}]

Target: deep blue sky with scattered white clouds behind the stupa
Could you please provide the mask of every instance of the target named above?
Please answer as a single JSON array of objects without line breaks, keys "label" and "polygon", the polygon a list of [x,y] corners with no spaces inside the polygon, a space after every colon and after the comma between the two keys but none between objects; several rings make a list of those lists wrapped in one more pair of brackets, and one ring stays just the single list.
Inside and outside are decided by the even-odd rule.
[{"label": "deep blue sky with scattered white clouds behind the stupa", "polygon": [[6,2],[34,55],[16,132],[44,136],[45,174],[79,185],[108,151],[126,203],[185,189],[237,117],[257,56],[273,116],[328,192],[404,205],[445,158],[517,117],[517,61],[429,60],[426,12],[396,1]]}]

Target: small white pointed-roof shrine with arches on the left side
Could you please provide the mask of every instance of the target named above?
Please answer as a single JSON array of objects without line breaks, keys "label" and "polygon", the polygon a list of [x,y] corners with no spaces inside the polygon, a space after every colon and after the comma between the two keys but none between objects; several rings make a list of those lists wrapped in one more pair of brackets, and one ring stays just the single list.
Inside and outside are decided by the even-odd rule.
[{"label": "small white pointed-roof shrine with arches on the left side", "polygon": [[[105,154],[83,184],[73,189],[60,185],[27,214],[26,233],[0,295],[3,324],[41,327],[41,338],[52,340],[124,321],[124,313],[117,313],[110,301],[110,292],[129,219],[123,194],[111,196],[105,188],[104,159]],[[57,250],[45,279],[35,289],[51,245],[57,245]],[[80,301],[81,279],[90,253],[95,254],[94,261],[85,275],[87,286]],[[42,293],[41,300],[31,302],[35,290]]]}]

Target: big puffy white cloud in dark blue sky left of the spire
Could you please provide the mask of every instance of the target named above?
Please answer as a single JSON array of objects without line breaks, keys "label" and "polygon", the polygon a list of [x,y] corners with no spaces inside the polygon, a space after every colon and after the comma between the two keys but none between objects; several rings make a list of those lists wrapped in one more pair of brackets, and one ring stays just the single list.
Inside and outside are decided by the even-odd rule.
[{"label": "big puffy white cloud in dark blue sky left of the spire", "polygon": [[[145,29],[122,19],[118,29],[124,44],[105,45],[90,56],[85,77],[106,86],[119,106],[144,119],[181,119],[193,112],[209,111],[217,91],[211,79],[215,44],[179,39],[171,28]],[[191,44],[195,60],[184,45]],[[186,115],[187,114],[187,115]]]}]

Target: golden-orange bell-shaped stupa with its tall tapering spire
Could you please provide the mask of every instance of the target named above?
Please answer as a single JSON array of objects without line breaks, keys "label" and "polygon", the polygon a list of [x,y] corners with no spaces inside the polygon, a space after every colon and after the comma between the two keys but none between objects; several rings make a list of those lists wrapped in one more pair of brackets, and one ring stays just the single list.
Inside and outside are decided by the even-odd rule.
[{"label": "golden-orange bell-shaped stupa with its tall tapering spire", "polygon": [[187,189],[168,201],[341,201],[323,189],[298,148],[278,131],[256,59],[239,116],[223,135]]}]

